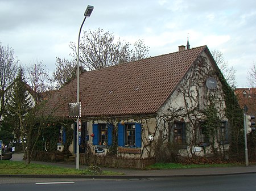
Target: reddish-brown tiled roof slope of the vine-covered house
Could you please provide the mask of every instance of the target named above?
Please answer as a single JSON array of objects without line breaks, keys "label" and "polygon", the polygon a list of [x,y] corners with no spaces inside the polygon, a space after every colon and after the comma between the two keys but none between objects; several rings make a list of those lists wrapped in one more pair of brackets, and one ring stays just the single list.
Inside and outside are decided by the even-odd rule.
[{"label": "reddish-brown tiled roof slope of the vine-covered house", "polygon": [[[81,115],[156,113],[205,49],[200,46],[81,74]],[[49,100],[51,108],[61,105],[55,116],[68,117],[68,103],[76,102],[76,84],[75,79]]]}]

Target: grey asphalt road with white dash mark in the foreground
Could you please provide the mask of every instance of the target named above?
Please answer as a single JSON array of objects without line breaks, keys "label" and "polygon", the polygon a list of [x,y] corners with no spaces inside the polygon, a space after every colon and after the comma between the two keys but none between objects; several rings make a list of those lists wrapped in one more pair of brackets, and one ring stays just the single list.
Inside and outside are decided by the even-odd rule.
[{"label": "grey asphalt road with white dash mark in the foreground", "polygon": [[1,191],[147,190],[147,191],[255,191],[256,174],[168,177],[150,179],[24,179],[2,178]]}]

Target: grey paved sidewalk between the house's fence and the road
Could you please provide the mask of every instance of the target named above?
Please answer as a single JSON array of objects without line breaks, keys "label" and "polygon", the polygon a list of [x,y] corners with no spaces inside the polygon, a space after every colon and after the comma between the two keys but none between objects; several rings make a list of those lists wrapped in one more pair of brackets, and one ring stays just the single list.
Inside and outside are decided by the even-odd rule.
[{"label": "grey paved sidewalk between the house's fence and the road", "polygon": [[[13,154],[11,160],[21,161],[23,154]],[[32,161],[31,163],[57,165],[67,168],[76,168],[76,164],[69,163],[51,163]],[[85,165],[80,165],[80,169],[85,169]],[[120,168],[101,168],[105,171],[119,172],[124,175],[109,175],[109,176],[68,176],[68,177],[81,177],[81,178],[109,178],[109,179],[132,179],[132,178],[150,178],[150,177],[179,177],[179,176],[215,176],[215,175],[236,175],[242,173],[256,173],[256,165],[241,166],[241,167],[212,167],[212,168],[188,168],[188,169],[163,169],[163,170],[136,170],[136,169],[120,169]],[[23,176],[24,177],[24,176]],[[31,177],[31,176],[30,176]],[[36,177],[36,176],[32,176]],[[42,177],[42,176],[40,176]],[[53,176],[51,176],[53,177]],[[64,176],[54,176],[64,177]],[[66,177],[66,176],[65,176]]]}]

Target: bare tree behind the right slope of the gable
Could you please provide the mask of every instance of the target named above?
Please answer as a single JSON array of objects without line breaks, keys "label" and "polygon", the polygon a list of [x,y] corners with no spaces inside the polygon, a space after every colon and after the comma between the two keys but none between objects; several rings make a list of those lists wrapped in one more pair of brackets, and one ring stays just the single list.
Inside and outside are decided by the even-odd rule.
[{"label": "bare tree behind the right slope of the gable", "polygon": [[226,82],[228,82],[230,87],[236,87],[236,70],[233,66],[229,66],[228,62],[225,61],[224,56],[220,50],[213,50],[212,56],[217,63],[221,73],[224,75]]}]

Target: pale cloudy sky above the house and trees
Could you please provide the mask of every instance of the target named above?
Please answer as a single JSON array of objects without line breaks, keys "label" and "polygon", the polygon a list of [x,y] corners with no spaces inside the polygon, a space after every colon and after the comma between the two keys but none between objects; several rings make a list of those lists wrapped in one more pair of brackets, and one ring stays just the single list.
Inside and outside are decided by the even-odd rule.
[{"label": "pale cloudy sky above the house and trees", "polygon": [[255,0],[0,0],[0,42],[22,65],[43,61],[49,73],[56,57],[71,59],[88,5],[94,6],[82,31],[98,28],[130,43],[141,39],[148,56],[207,45],[236,70],[237,87],[249,87],[247,72],[256,62]]}]

